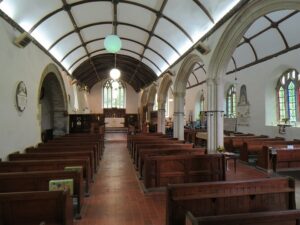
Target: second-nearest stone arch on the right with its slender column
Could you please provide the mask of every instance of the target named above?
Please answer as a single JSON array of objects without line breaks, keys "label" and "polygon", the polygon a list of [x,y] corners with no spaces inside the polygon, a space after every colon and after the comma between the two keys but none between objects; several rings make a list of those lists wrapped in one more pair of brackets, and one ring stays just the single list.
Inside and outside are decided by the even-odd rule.
[{"label": "second-nearest stone arch on the right with its slender column", "polygon": [[174,82],[174,128],[173,135],[179,140],[184,139],[184,98],[186,85],[196,63],[202,62],[196,54],[188,55],[181,64]]}]

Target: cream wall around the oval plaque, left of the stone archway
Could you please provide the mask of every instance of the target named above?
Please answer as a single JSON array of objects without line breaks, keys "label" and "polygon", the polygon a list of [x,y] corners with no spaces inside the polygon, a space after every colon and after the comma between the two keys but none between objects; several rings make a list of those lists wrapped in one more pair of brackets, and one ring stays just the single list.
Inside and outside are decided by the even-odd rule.
[{"label": "cream wall around the oval plaque, left of the stone archway", "polygon": [[[50,57],[29,44],[24,49],[12,42],[19,32],[0,18],[0,158],[13,151],[23,151],[26,147],[40,142],[41,112],[39,111],[39,85],[41,75]],[[16,109],[15,92],[19,81],[27,87],[27,107],[21,113]]]}]

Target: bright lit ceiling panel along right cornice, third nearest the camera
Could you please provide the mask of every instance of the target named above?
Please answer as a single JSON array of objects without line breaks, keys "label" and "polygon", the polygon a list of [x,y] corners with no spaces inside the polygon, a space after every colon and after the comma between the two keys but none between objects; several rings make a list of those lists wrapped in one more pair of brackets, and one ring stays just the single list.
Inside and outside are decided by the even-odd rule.
[{"label": "bright lit ceiling panel along right cornice, third nearest the camera", "polygon": [[161,18],[154,31],[183,54],[193,44],[175,25]]}]

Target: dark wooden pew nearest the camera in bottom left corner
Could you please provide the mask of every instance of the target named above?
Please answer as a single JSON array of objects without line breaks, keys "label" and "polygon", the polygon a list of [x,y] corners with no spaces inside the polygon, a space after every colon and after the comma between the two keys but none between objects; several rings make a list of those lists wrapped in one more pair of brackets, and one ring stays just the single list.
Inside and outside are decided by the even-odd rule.
[{"label": "dark wooden pew nearest the camera in bottom left corner", "polygon": [[73,225],[72,199],[65,191],[0,193],[0,224]]}]

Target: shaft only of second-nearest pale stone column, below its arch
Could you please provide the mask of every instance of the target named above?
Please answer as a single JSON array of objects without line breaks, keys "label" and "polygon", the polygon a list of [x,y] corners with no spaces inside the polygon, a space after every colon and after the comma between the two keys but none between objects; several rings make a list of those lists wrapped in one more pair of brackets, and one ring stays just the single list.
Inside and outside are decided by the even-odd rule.
[{"label": "shaft only of second-nearest pale stone column, below its arch", "polygon": [[184,140],[184,97],[185,93],[175,92],[174,94],[174,137]]}]

